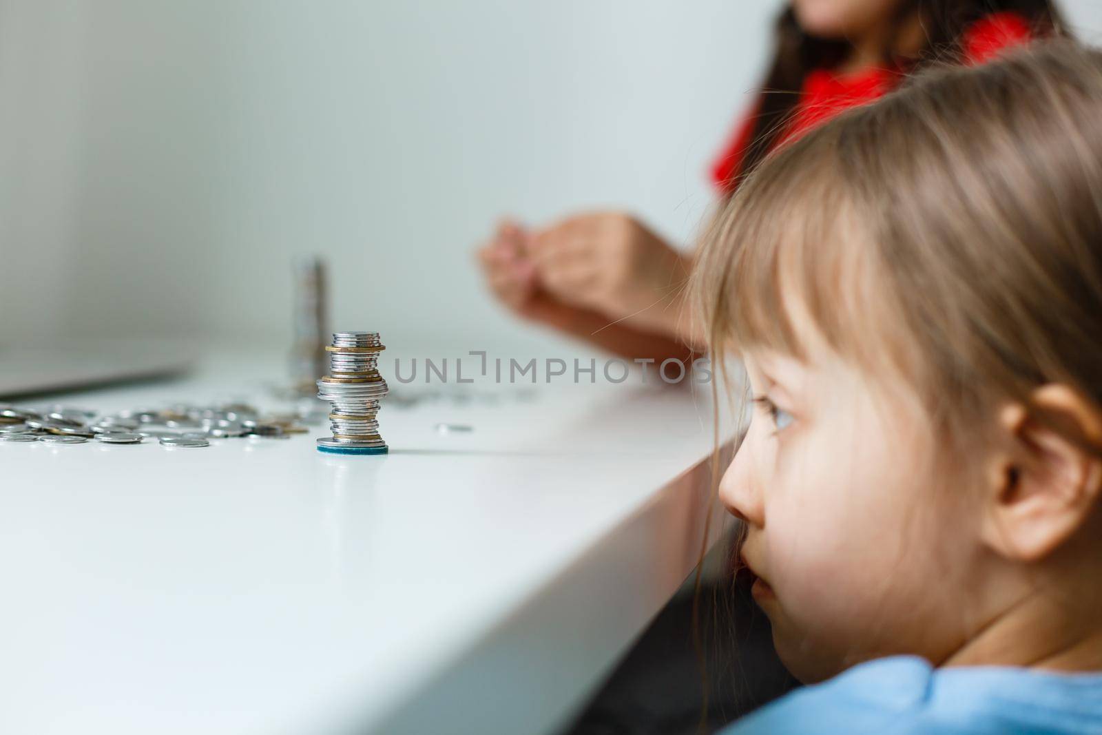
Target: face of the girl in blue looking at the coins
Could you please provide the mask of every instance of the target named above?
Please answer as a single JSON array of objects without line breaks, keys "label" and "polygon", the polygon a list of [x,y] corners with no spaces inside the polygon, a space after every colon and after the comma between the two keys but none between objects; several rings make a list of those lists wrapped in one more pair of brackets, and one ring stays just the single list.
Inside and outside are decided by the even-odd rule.
[{"label": "face of the girl in blue looking at the coins", "polygon": [[744,358],[754,413],[720,495],[747,526],[781,660],[804,682],[892,653],[938,660],[965,637],[954,593],[980,547],[974,494],[934,472],[917,402],[838,359]]}]

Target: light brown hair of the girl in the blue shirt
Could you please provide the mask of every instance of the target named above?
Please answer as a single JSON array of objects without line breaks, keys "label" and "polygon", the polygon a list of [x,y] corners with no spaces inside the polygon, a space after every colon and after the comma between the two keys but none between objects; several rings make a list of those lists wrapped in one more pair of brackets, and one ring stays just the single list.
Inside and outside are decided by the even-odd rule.
[{"label": "light brown hair of the girl in the blue shirt", "polygon": [[957,447],[1045,382],[1102,404],[1102,53],[1037,43],[840,115],[741,183],[693,280],[720,371],[806,357],[799,309]]}]

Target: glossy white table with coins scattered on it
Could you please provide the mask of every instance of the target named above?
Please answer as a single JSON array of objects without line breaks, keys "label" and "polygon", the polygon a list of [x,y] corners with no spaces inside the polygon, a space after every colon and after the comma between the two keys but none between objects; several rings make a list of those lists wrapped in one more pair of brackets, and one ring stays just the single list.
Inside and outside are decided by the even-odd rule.
[{"label": "glossy white table with coins scattered on it", "polygon": [[[223,357],[63,402],[264,404],[281,367]],[[387,456],[321,454],[322,428],[0,443],[0,732],[554,732],[714,508],[710,386],[597,380],[430,386],[445,398],[385,404]]]}]

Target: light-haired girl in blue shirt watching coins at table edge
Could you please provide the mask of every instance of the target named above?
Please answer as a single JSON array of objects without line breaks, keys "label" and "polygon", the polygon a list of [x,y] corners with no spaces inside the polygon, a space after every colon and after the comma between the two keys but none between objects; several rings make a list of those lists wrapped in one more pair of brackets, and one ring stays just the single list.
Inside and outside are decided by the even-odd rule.
[{"label": "light-haired girl in blue shirt watching coins at table edge", "polygon": [[1102,733],[1102,53],[844,112],[694,278],[754,401],[720,496],[813,684],[724,732]]}]

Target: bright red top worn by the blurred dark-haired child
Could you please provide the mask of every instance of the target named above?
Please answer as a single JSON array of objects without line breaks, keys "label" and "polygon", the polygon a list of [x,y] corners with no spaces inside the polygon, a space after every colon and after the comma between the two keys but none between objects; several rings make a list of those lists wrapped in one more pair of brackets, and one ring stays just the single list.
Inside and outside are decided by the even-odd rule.
[{"label": "bright red top worn by the blurred dark-haired child", "polygon": [[[992,13],[964,32],[964,61],[981,64],[1003,48],[1025,43],[1031,36],[1029,22],[1024,15],[1015,12]],[[774,144],[799,138],[842,110],[873,101],[890,91],[899,78],[899,74],[885,66],[873,66],[846,75],[838,75],[830,69],[810,72],[803,79],[791,120]],[[712,181],[725,195],[734,190],[732,177],[742,165],[756,118],[756,115],[748,115],[739,123],[734,137],[712,164]]]}]

